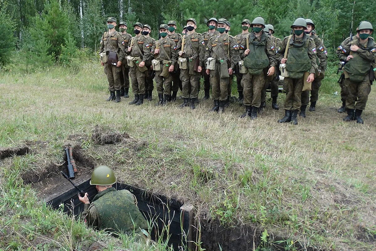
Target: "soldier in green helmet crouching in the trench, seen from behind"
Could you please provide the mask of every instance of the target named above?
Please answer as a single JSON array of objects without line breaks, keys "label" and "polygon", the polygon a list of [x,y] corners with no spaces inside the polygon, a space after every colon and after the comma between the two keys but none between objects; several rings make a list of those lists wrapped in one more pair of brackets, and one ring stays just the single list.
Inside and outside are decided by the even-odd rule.
[{"label": "soldier in green helmet crouching in the trench, seen from behind", "polygon": [[98,191],[92,202],[88,193],[79,200],[84,204],[81,218],[96,230],[105,230],[118,236],[118,233],[137,234],[136,239],[147,242],[148,224],[139,211],[135,197],[128,190],[116,190],[114,172],[108,166],[96,167],[91,175],[90,185]]}]

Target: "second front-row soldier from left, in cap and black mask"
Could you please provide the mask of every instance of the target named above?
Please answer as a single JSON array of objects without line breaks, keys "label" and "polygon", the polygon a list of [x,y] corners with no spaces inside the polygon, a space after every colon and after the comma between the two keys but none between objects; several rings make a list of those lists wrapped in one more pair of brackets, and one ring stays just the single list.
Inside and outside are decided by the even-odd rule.
[{"label": "second front-row soldier from left, in cap and black mask", "polygon": [[[132,57],[140,57],[141,62],[135,61],[134,66],[129,68],[129,75],[132,82],[133,94],[135,99],[129,102],[130,105],[141,105],[144,103],[145,94],[145,79],[146,72],[142,70],[145,66],[145,62],[150,61],[150,39],[141,34],[143,25],[141,23],[135,23],[135,37],[132,38],[129,47],[127,49],[127,55]],[[132,45],[132,46],[131,46]]]}]

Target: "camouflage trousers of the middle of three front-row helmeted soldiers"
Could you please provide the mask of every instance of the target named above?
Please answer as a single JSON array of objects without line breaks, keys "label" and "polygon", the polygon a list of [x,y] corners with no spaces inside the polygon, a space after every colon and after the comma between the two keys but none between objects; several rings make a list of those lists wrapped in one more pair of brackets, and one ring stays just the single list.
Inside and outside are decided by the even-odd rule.
[{"label": "camouflage trousers of the middle of three front-row helmeted soldiers", "polygon": [[285,110],[300,110],[302,106],[303,78],[285,78],[283,88],[286,91]]}]

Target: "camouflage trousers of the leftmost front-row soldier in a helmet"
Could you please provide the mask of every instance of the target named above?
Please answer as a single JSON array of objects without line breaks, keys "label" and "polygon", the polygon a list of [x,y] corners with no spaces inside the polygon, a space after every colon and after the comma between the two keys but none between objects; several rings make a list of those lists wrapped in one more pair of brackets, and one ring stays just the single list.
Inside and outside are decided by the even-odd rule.
[{"label": "camouflage trousers of the leftmost front-row soldier in a helmet", "polygon": [[243,96],[244,105],[255,106],[261,105],[261,92],[265,85],[264,71],[260,75],[243,74]]}]

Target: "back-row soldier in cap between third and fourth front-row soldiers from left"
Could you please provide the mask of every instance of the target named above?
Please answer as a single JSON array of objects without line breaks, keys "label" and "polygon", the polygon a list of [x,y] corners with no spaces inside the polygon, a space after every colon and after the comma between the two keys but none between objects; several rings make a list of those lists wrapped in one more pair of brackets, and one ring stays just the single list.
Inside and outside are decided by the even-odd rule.
[{"label": "back-row soldier in cap between third and fourth front-row soldiers from left", "polygon": [[[167,25],[168,25],[168,38],[174,40],[175,44],[178,44],[179,41],[182,40],[182,35],[175,32],[176,21],[170,20],[170,21],[168,21]],[[176,49],[179,50],[180,48],[176,48]],[[179,90],[179,88],[180,88],[180,90],[183,89],[182,81],[180,80],[180,68],[179,68],[178,64],[174,65],[174,71],[171,73],[171,75],[172,75],[173,80],[172,80],[172,88],[171,88],[172,94],[170,94],[170,95],[171,95],[171,100],[175,101],[177,91]]]}]

